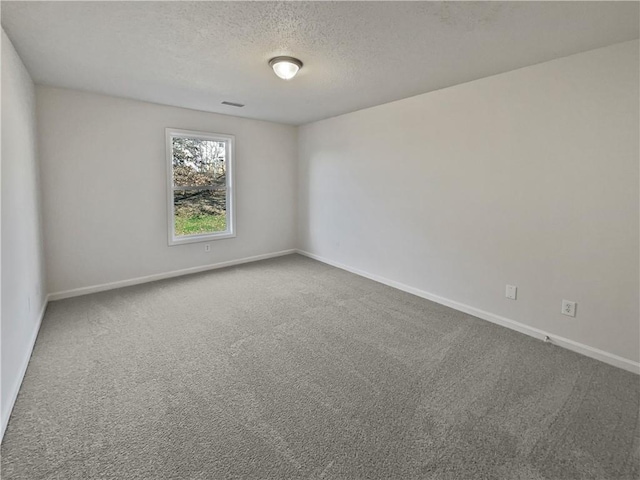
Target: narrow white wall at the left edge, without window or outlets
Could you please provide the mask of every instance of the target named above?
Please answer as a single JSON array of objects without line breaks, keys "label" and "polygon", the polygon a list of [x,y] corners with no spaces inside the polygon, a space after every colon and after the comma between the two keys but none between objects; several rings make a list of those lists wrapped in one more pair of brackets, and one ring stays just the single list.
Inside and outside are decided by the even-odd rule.
[{"label": "narrow white wall at the left edge, without window or outlets", "polygon": [[45,302],[31,77],[2,31],[1,431],[38,333]]}]

